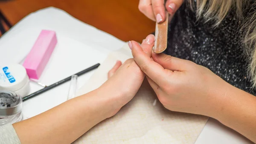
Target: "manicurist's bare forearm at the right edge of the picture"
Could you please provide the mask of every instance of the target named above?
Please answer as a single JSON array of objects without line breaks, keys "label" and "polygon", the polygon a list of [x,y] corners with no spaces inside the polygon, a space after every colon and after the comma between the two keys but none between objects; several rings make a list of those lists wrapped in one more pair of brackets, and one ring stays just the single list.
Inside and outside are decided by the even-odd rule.
[{"label": "manicurist's bare forearm at the right edge of the picture", "polygon": [[220,106],[216,119],[256,143],[256,97],[230,86]]}]

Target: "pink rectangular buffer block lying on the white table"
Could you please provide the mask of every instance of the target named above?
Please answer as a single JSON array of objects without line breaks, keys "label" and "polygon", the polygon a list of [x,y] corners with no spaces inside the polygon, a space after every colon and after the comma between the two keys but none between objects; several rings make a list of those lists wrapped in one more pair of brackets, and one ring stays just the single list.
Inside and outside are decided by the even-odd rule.
[{"label": "pink rectangular buffer block lying on the white table", "polygon": [[54,31],[41,31],[23,63],[29,78],[40,78],[56,44],[57,38]]}]

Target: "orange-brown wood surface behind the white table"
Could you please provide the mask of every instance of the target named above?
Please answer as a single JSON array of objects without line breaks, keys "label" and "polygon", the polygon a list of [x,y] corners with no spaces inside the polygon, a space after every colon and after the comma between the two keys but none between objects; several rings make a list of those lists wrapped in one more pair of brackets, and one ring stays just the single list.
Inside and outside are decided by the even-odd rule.
[{"label": "orange-brown wood surface behind the white table", "polygon": [[31,12],[54,6],[121,40],[141,42],[154,32],[155,23],[140,13],[138,3],[139,0],[10,0],[0,2],[0,9],[15,24]]}]

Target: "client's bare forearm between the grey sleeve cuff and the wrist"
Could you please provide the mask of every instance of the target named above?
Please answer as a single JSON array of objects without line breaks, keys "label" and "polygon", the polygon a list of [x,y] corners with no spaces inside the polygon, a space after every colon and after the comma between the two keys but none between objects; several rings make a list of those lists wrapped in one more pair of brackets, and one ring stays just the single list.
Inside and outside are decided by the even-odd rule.
[{"label": "client's bare forearm between the grey sleeve cuff and the wrist", "polygon": [[70,144],[109,117],[106,105],[108,101],[96,89],[13,127],[22,144]]}]

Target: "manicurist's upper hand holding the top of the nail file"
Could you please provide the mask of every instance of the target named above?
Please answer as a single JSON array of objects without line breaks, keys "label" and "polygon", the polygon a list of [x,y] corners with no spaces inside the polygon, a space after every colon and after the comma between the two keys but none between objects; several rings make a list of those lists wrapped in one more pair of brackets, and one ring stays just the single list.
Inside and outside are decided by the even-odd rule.
[{"label": "manicurist's upper hand holding the top of the nail file", "polygon": [[174,14],[182,5],[183,0],[140,0],[140,12],[145,14],[149,19],[161,23],[165,20],[165,11]]}]

